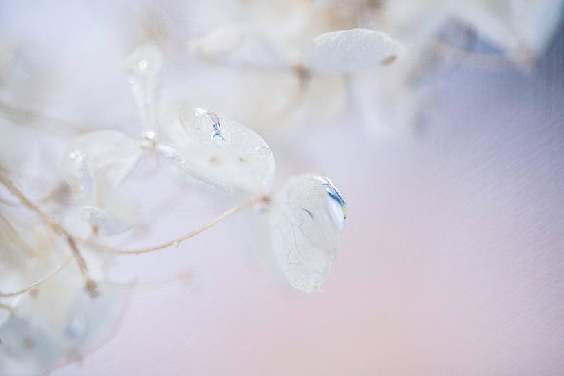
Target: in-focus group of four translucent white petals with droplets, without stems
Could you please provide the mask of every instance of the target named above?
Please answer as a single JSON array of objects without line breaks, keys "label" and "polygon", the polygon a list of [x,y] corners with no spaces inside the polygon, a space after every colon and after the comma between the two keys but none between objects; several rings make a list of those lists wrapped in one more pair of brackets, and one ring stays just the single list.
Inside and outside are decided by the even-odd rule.
[{"label": "in-focus group of four translucent white petals with droplets, without stems", "polygon": [[[380,57],[381,59],[381,57]],[[141,46],[124,63],[146,128],[133,139],[115,130],[88,132],[68,144],[61,168],[81,197],[81,217],[93,233],[126,228],[108,206],[113,191],[143,152],[161,155],[189,177],[265,206],[275,237],[273,250],[295,288],[318,290],[340,242],[346,204],[324,175],[291,178],[273,197],[275,172],[264,139],[240,123],[184,103],[153,100],[162,57],[156,46]]]}]

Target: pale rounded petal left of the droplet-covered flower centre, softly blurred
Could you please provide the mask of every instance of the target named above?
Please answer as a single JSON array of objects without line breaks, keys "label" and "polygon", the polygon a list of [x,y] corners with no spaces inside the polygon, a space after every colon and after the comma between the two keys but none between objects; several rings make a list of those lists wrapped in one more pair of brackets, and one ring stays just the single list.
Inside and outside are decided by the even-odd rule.
[{"label": "pale rounded petal left of the droplet-covered flower centre, softly blurred", "polygon": [[88,174],[95,186],[93,202],[103,206],[110,192],[133,170],[142,153],[139,141],[115,130],[89,132],[72,140],[61,159],[61,170],[76,192],[84,191]]}]

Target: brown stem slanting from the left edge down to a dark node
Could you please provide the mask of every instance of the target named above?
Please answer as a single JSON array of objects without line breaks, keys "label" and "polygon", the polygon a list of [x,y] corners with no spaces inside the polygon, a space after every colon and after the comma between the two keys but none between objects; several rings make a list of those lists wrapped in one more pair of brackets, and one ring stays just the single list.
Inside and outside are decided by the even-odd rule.
[{"label": "brown stem slanting from the left edge down to a dark node", "polygon": [[5,186],[10,191],[10,193],[12,193],[12,195],[14,195],[14,197],[16,197],[21,202],[21,204],[23,204],[23,206],[26,206],[26,208],[35,212],[41,218],[41,221],[43,221],[43,223],[48,225],[53,230],[53,232],[55,232],[58,235],[62,235],[62,237],[64,237],[68,246],[70,247],[70,250],[72,250],[72,254],[75,256],[75,259],[77,260],[77,264],[80,268],[82,275],[84,275],[86,281],[90,281],[90,277],[88,277],[88,266],[86,266],[86,261],[84,261],[84,257],[82,257],[80,250],[77,247],[75,238],[72,237],[72,235],[70,235],[63,228],[63,226],[61,226],[57,221],[55,221],[55,219],[52,219],[52,217],[46,214],[46,212],[43,212],[43,210],[41,210],[30,199],[28,199],[26,195],[23,195],[23,192],[21,192],[21,190],[19,190],[14,185],[14,182],[9,177],[0,173],[0,183],[3,184],[3,186]]}]

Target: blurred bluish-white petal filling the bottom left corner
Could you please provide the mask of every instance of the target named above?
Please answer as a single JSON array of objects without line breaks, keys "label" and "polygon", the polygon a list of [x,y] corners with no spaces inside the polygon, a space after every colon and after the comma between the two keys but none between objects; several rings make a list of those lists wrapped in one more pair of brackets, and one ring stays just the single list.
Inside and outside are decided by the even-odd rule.
[{"label": "blurred bluish-white petal filling the bottom left corner", "polygon": [[41,375],[108,339],[124,312],[130,286],[101,282],[95,298],[81,286],[44,286],[36,297],[26,297],[26,304],[0,327],[0,375]]}]

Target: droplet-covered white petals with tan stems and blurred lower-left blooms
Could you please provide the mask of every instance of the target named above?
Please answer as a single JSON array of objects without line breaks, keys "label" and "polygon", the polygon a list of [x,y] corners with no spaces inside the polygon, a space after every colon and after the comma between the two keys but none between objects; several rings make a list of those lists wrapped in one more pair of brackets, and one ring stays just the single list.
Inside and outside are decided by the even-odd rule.
[{"label": "droplet-covered white petals with tan stems and blurred lower-left blooms", "polygon": [[[22,221],[17,210],[2,206],[1,375],[35,375],[79,359],[108,335],[126,304],[128,286],[106,280],[104,270],[112,257],[101,251],[144,253],[171,245],[128,251],[96,242],[132,226],[121,215],[115,192],[144,152],[164,157],[190,178],[250,198],[207,228],[259,205],[289,283],[310,293],[327,279],[346,218],[336,186],[324,175],[299,175],[271,196],[275,162],[264,139],[224,115],[158,101],[161,63],[161,52],[153,45],[137,48],[124,62],[144,127],[139,139],[117,130],[87,132],[70,141],[61,158],[61,172],[80,203],[90,235],[72,233],[28,199],[10,179],[17,161],[2,160],[2,185],[40,221]],[[61,301],[61,296],[66,299]]]}]

